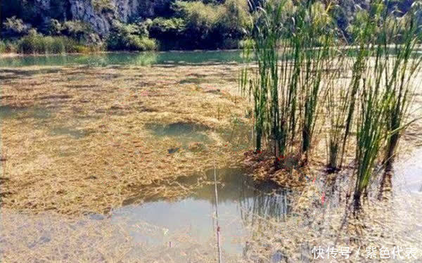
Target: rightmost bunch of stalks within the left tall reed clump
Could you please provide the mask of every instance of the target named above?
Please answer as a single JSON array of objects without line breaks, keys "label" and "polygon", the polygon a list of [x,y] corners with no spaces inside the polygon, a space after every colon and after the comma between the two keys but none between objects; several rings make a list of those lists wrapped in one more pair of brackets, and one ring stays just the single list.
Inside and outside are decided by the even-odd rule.
[{"label": "rightmost bunch of stalks within the left tall reed clump", "polygon": [[[318,117],[321,91],[331,79],[334,30],[329,10],[319,2],[308,1],[299,8],[298,33],[293,37],[302,46],[303,63],[300,74],[302,120],[302,153],[308,154]],[[323,82],[324,81],[324,82]]]}]

